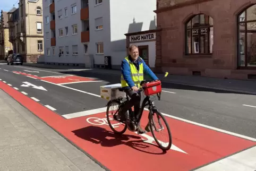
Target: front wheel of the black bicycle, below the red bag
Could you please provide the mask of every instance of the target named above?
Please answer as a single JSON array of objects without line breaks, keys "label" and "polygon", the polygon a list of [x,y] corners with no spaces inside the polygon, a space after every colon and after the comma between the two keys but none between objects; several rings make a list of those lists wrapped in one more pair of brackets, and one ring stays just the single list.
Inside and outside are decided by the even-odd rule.
[{"label": "front wheel of the black bicycle, below the red bag", "polygon": [[[153,116],[156,116],[156,119],[153,118]],[[161,123],[160,119],[162,119],[164,122]],[[165,127],[164,125],[165,124]],[[160,126],[160,128],[158,128],[158,125]],[[170,147],[172,146],[172,134],[170,133],[170,128],[169,125],[165,119],[165,117],[163,116],[163,114],[161,114],[158,111],[152,111],[149,117],[149,126],[150,126],[150,131],[153,135],[153,138],[155,139],[155,141],[157,142],[158,146],[160,147],[160,149],[162,150],[169,150]],[[160,138],[159,135],[156,135],[156,133],[166,130],[167,133],[165,133],[165,136],[167,135],[167,142],[163,141],[163,138]],[[165,145],[165,146],[164,146]]]}]

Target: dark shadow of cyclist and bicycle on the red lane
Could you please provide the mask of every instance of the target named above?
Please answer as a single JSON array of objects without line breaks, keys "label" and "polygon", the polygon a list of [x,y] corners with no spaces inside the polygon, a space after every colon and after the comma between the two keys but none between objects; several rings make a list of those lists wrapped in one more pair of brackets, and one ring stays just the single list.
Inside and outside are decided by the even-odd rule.
[{"label": "dark shadow of cyclist and bicycle on the red lane", "polygon": [[127,134],[118,135],[102,127],[88,126],[72,132],[81,139],[90,141],[95,144],[100,144],[103,147],[115,147],[124,144],[133,149],[139,150],[141,152],[150,153],[153,155],[163,155],[166,153],[166,151],[160,149],[158,150],[158,153],[156,152],[156,150],[153,150],[154,152],[150,152],[150,147],[155,146],[156,148],[158,148],[158,146],[143,142],[140,136]]}]

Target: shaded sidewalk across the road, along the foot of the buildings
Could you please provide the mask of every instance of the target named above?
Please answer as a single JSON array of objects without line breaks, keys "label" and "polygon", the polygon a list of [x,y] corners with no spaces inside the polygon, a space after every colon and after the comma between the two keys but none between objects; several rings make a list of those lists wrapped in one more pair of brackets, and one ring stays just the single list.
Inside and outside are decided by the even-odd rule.
[{"label": "shaded sidewalk across the road, along the foot of the buildings", "polygon": [[[78,66],[58,66],[47,64],[29,64],[24,63],[25,66],[39,67],[44,69],[58,69],[70,71],[92,72],[100,74],[121,75],[120,70],[107,70],[107,69],[85,69]],[[156,74],[158,78],[163,78],[164,74]],[[195,86],[202,88],[211,88],[217,90],[228,90],[233,92],[251,93],[256,95],[256,81],[253,80],[232,80],[232,79],[217,79],[207,78],[203,76],[191,75],[168,75],[164,82],[183,84],[187,86]]]}]

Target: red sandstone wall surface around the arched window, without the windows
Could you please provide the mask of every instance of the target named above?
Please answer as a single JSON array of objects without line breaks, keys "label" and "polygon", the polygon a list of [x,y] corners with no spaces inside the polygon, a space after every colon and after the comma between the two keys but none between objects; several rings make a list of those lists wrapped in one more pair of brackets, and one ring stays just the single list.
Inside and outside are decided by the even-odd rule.
[{"label": "red sandstone wall surface around the arched window, without the windows", "polygon": [[[158,0],[158,9],[193,0]],[[233,69],[237,67],[237,14],[256,0],[211,0],[157,14],[161,31],[160,52],[156,65],[190,69]],[[185,22],[194,14],[204,13],[214,19],[212,56],[185,56]],[[161,58],[161,59],[160,59]],[[184,71],[185,72],[185,71]]]}]

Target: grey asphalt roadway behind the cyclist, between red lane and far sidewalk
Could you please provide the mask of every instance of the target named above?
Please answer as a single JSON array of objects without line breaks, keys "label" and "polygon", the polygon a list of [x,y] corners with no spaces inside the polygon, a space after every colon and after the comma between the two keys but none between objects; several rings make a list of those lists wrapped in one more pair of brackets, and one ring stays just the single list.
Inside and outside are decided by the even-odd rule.
[{"label": "grey asphalt roadway behind the cyclist, between red lane and far sidewalk", "polygon": [[[100,86],[120,82],[120,76],[96,74],[84,71],[36,69],[35,67],[0,65],[0,79],[19,89],[31,98],[40,100],[59,115],[105,107]],[[20,74],[14,71],[22,72]],[[28,77],[78,75],[96,78],[99,82],[81,82],[57,85]],[[27,75],[27,76],[26,76]],[[22,87],[29,82],[45,90]],[[218,91],[179,84],[163,83],[161,100],[155,104],[161,112],[193,122],[217,127],[226,131],[256,138],[256,96],[228,91]],[[88,94],[92,93],[92,94]],[[249,106],[246,106],[249,105]],[[252,107],[251,107],[252,106]]]}]

